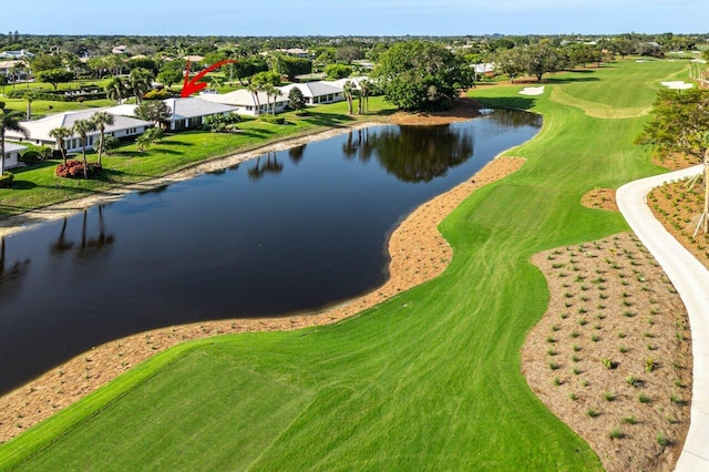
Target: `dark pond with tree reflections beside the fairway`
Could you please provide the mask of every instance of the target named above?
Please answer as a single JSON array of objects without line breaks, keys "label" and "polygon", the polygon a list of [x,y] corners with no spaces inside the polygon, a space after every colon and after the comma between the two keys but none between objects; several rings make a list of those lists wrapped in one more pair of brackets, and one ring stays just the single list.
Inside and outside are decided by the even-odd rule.
[{"label": "dark pond with tree reflections beside the fairway", "polygon": [[405,215],[540,126],[496,111],[353,131],[6,237],[0,392],[131,334],[310,310],[376,288]]}]

